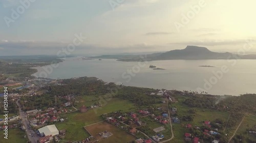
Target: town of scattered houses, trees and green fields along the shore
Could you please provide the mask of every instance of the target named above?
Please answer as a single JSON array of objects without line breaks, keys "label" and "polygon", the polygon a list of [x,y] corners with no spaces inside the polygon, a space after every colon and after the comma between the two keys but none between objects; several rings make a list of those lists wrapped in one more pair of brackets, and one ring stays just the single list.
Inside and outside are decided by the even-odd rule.
[{"label": "town of scattered houses, trees and green fields along the shore", "polygon": [[[115,93],[108,90],[116,86]],[[23,142],[221,143],[246,140],[244,132],[247,140],[256,138],[253,113],[233,113],[229,101],[223,98],[216,104],[221,97],[206,93],[125,87],[93,77],[23,82],[10,78],[2,87],[13,87],[8,129],[25,131]],[[102,98],[107,103],[101,103]],[[241,120],[233,118],[244,123],[238,125]],[[0,121],[1,130],[5,125]]]}]

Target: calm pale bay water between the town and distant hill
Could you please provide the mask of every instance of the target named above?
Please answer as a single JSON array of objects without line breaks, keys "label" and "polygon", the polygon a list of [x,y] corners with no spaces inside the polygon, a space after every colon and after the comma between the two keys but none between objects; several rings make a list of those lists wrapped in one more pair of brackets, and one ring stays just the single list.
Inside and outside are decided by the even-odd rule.
[{"label": "calm pale bay water between the town and distant hill", "polygon": [[[97,77],[134,87],[205,91],[214,95],[256,93],[256,60],[166,60],[120,62],[115,59],[69,58],[53,65],[36,67],[37,77],[65,79]],[[149,68],[155,65],[165,70]],[[199,67],[210,65],[214,67]],[[45,73],[48,73],[47,75]]]}]

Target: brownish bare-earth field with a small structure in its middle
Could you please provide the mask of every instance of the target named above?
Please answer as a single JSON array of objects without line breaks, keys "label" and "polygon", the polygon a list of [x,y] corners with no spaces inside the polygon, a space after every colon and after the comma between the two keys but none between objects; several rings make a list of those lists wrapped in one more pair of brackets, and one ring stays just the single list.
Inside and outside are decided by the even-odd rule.
[{"label": "brownish bare-earth field with a small structure in its middle", "polygon": [[100,142],[104,142],[104,143],[130,142],[136,139],[135,136],[107,122],[101,122],[95,125],[87,126],[86,129],[97,139],[100,138],[100,135],[99,135],[100,132],[103,132],[103,131],[111,132],[113,134],[112,136],[108,138],[102,138],[100,140]]}]

